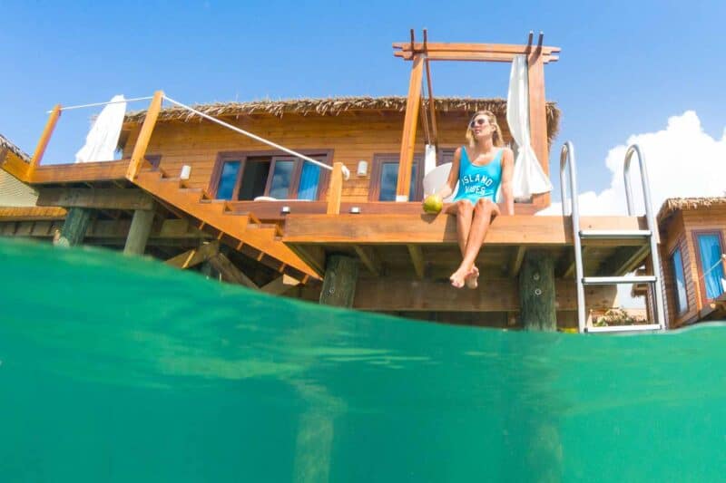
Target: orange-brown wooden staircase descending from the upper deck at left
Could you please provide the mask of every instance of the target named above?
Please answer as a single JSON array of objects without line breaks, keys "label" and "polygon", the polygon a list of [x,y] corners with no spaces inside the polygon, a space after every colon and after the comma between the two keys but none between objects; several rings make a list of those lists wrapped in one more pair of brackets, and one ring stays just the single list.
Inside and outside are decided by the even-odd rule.
[{"label": "orange-brown wooden staircase descending from the upper deck at left", "polygon": [[211,199],[201,188],[189,188],[162,169],[141,169],[133,184],[149,192],[178,217],[216,237],[221,243],[305,283],[319,275],[280,241],[280,227],[264,224],[252,213],[231,211],[226,200]]}]

